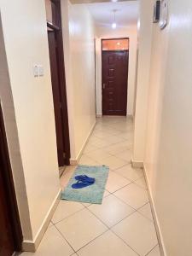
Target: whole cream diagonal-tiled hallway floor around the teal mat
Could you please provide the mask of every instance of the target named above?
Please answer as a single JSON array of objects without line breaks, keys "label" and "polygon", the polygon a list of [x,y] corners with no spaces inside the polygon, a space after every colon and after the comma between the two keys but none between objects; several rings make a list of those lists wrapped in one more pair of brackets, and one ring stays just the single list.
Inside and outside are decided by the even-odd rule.
[{"label": "whole cream diagonal-tiled hallway floor around the teal mat", "polygon": [[80,164],[110,167],[102,205],[61,201],[38,251],[22,256],[160,256],[143,170],[131,168],[132,139],[131,119],[97,119]]}]

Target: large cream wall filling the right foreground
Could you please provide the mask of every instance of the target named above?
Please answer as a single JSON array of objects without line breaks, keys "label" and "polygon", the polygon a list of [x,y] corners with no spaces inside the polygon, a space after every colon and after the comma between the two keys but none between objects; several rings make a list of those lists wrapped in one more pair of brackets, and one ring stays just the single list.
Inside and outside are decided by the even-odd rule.
[{"label": "large cream wall filling the right foreground", "polygon": [[[192,5],[190,0],[168,2],[169,25],[163,31],[153,26],[143,161],[166,255],[190,256]],[[148,4],[143,8],[153,9]]]}]

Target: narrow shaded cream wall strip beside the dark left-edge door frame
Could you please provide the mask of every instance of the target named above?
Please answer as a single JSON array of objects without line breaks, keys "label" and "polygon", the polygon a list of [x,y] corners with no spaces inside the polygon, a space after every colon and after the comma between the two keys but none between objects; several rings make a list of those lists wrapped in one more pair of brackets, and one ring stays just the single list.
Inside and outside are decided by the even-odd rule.
[{"label": "narrow shaded cream wall strip beside the dark left-edge door frame", "polygon": [[22,232],[26,239],[32,238],[32,227],[26,195],[26,182],[20,156],[20,144],[15,120],[15,108],[9,80],[8,62],[3,40],[3,27],[0,19],[0,99],[3,120],[9,148],[9,158],[15,181],[17,204],[20,211]]}]

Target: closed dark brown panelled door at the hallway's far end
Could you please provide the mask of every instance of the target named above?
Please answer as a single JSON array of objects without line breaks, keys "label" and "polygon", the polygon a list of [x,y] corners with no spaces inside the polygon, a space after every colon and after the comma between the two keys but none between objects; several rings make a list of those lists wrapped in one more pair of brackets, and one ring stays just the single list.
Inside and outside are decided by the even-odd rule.
[{"label": "closed dark brown panelled door at the hallway's far end", "polygon": [[102,114],[126,115],[128,50],[102,51]]}]

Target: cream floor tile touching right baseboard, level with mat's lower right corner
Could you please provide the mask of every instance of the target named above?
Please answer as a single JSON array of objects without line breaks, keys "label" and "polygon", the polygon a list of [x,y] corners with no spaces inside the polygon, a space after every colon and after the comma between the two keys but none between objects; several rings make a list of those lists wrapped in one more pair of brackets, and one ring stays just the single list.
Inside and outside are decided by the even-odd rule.
[{"label": "cream floor tile touching right baseboard, level with mat's lower right corner", "polygon": [[138,187],[134,183],[129,184],[123,189],[119,189],[114,195],[134,209],[143,207],[148,202],[147,190]]}]

